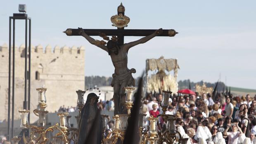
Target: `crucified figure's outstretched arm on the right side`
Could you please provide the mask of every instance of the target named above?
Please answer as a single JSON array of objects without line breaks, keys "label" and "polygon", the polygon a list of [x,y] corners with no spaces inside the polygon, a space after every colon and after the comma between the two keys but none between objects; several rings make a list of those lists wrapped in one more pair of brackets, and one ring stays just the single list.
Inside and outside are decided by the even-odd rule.
[{"label": "crucified figure's outstretched arm on the right side", "polygon": [[151,35],[148,35],[148,36],[146,36],[144,38],[141,38],[141,39],[136,40],[134,42],[129,42],[129,43],[124,44],[123,48],[128,51],[131,47],[133,47],[135,45],[139,45],[141,43],[145,43],[145,42],[151,40],[152,38],[154,38],[156,35],[159,35],[161,33],[163,33],[163,29],[162,28],[156,30],[154,33],[152,33]]}]

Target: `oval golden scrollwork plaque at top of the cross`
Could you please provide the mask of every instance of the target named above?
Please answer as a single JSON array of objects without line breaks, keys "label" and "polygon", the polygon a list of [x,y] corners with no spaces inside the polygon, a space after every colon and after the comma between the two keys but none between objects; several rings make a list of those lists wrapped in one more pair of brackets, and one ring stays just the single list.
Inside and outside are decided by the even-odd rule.
[{"label": "oval golden scrollwork plaque at top of the cross", "polygon": [[110,18],[112,26],[116,26],[117,28],[127,27],[130,22],[130,18],[127,16],[123,16],[123,14],[114,15]]}]

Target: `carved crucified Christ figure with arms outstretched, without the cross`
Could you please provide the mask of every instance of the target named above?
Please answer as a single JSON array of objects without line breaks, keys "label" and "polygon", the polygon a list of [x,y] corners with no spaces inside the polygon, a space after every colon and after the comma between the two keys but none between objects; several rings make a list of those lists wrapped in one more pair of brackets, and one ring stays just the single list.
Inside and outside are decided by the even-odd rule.
[{"label": "carved crucified Christ figure with arms outstretched, without the cross", "polygon": [[114,87],[114,115],[127,113],[124,110],[125,108],[125,89],[127,86],[135,86],[135,80],[133,79],[132,73],[135,73],[136,70],[134,68],[129,69],[127,67],[128,63],[128,50],[138,44],[145,43],[148,40],[154,38],[155,36],[163,33],[163,29],[160,28],[156,30],[151,35],[148,35],[139,40],[125,43],[123,45],[119,45],[117,41],[109,40],[106,45],[96,44],[97,41],[87,35],[83,28],[78,28],[78,34],[83,36],[86,40],[88,40],[92,45],[96,45],[100,47],[102,50],[108,52],[111,57],[112,63],[115,67],[114,74],[112,75],[113,80],[111,86]]}]

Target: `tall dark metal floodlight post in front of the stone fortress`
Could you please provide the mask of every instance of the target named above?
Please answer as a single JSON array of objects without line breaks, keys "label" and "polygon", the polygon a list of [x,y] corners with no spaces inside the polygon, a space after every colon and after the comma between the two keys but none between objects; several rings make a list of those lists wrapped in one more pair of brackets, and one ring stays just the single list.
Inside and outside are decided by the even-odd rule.
[{"label": "tall dark metal floodlight post in front of the stone fortress", "polygon": [[[31,18],[28,17],[28,14],[26,14],[26,5],[19,5],[19,12],[24,12],[24,13],[13,14],[12,17],[9,17],[9,74],[8,74],[8,125],[7,125],[8,140],[10,140],[10,137],[13,137],[13,132],[14,132],[13,130],[14,130],[14,101],[15,101],[14,92],[15,92],[15,20],[16,19],[25,20],[25,57],[24,57],[25,58],[25,70],[24,70],[25,87],[24,87],[23,109],[30,110]],[[13,20],[13,28],[12,28],[12,20]],[[29,27],[28,27],[28,20],[29,20]],[[13,29],[13,33],[12,33],[12,29]],[[12,47],[11,47],[11,44],[12,44]],[[11,52],[11,49],[12,49],[12,52]],[[27,62],[27,59],[28,59],[28,62]],[[28,63],[28,68],[27,68],[27,63]],[[12,65],[12,68],[11,68],[11,65]],[[11,76],[11,70],[12,70],[12,76]],[[12,77],[12,82],[11,82],[11,77]],[[11,87],[11,83],[12,83],[12,87]],[[12,90],[12,130],[10,132],[11,90]],[[27,101],[27,98],[28,98],[28,101]],[[29,121],[30,121],[30,116],[28,114],[28,123]]]}]

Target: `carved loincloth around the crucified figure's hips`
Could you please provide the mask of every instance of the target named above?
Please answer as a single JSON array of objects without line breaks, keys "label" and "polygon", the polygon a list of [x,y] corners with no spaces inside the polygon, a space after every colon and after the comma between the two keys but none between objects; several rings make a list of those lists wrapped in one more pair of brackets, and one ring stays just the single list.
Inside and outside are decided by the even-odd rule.
[{"label": "carved loincloth around the crucified figure's hips", "polygon": [[134,68],[131,68],[127,73],[124,73],[122,75],[117,75],[116,73],[113,73],[111,86],[114,87],[114,84],[121,85],[122,83],[127,83],[127,86],[135,86],[135,80],[132,76],[132,73],[136,73],[136,70]]}]

